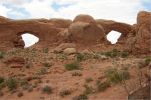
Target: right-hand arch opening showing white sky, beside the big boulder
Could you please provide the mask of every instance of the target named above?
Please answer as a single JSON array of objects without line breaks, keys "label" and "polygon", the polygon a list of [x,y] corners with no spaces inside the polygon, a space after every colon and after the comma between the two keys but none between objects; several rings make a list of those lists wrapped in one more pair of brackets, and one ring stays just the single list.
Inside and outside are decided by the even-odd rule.
[{"label": "right-hand arch opening showing white sky, beside the big boulder", "polygon": [[120,32],[111,31],[110,33],[107,34],[107,40],[110,41],[112,44],[116,44],[120,36],[121,36]]}]

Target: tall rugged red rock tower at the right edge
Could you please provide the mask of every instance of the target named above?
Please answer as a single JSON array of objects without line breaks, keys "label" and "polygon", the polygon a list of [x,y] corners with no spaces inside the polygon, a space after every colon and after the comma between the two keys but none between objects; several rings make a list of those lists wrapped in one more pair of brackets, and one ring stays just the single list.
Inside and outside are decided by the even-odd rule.
[{"label": "tall rugged red rock tower at the right edge", "polygon": [[151,12],[139,12],[134,27],[135,32],[126,43],[127,49],[136,54],[151,53]]}]

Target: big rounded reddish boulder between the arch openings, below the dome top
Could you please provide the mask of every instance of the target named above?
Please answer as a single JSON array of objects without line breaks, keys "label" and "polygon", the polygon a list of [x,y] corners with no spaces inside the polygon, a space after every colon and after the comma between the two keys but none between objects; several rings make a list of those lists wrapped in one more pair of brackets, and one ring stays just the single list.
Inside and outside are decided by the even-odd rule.
[{"label": "big rounded reddish boulder between the arch openings, below the dome top", "polygon": [[103,28],[92,23],[72,23],[68,32],[71,34],[70,38],[72,42],[79,43],[81,45],[101,43],[105,38]]}]

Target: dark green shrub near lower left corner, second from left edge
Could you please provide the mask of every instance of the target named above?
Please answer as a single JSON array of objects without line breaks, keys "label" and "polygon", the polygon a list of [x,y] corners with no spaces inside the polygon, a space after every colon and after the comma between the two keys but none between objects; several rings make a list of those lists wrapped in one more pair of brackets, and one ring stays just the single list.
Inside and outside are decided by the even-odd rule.
[{"label": "dark green shrub near lower left corner, second from left edge", "polygon": [[15,78],[8,78],[6,80],[6,85],[10,91],[14,90],[17,88],[17,80]]}]

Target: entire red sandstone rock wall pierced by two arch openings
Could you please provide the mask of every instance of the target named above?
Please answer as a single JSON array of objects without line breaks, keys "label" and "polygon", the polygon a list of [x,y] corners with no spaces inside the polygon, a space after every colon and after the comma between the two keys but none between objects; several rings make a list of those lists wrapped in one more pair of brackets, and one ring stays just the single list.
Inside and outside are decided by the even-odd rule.
[{"label": "entire red sandstone rock wall pierced by two arch openings", "polygon": [[[35,47],[56,47],[73,43],[83,48],[97,44],[108,45],[106,35],[113,31],[121,33],[118,45],[127,51],[149,53],[151,42],[151,13],[139,12],[137,23],[129,25],[112,20],[97,19],[90,15],[78,15],[68,19],[12,20],[0,17],[0,50],[23,48],[21,35],[30,33],[39,38]],[[60,50],[62,51],[62,50]]]}]

